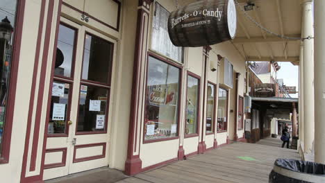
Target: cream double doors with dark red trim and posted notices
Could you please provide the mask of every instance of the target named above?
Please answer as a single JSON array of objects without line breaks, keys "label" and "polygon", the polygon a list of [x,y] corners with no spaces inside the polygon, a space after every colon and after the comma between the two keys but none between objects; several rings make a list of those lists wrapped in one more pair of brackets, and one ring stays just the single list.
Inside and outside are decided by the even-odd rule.
[{"label": "cream double doors with dark red trim and posted notices", "polygon": [[61,18],[44,180],[108,166],[115,40]]}]

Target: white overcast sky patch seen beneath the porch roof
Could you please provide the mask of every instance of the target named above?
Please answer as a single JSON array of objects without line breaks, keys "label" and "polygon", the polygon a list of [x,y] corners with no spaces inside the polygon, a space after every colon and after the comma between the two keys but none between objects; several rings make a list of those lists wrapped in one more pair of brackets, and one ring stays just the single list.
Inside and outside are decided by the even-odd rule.
[{"label": "white overcast sky patch seen beneath the porch roof", "polygon": [[[288,87],[297,87],[299,82],[299,67],[294,66],[291,62],[278,62],[281,69],[278,71],[277,79],[283,79],[283,85]],[[298,94],[290,94],[294,98],[298,98]]]}]

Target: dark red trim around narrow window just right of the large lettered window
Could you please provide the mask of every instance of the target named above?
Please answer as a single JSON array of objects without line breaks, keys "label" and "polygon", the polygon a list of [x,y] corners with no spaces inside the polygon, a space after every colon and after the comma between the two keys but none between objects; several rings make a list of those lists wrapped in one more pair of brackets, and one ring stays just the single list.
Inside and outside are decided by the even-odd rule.
[{"label": "dark red trim around narrow window just right of the large lettered window", "polygon": [[[192,73],[191,71],[188,71],[188,73],[187,73],[187,76],[186,76],[186,80],[188,81],[188,76],[191,76],[191,77],[193,77],[193,78],[197,78],[197,80],[199,81],[198,82],[198,98],[197,98],[197,104],[198,104],[198,107],[197,107],[197,132],[196,133],[193,133],[193,134],[185,134],[185,132],[184,132],[184,138],[186,139],[186,138],[190,138],[190,137],[197,137],[197,136],[199,136],[199,132],[200,132],[200,123],[199,123],[199,119],[200,119],[200,110],[201,110],[201,76],[199,76],[199,75],[197,75],[197,74],[195,74],[195,73]],[[187,82],[186,82],[187,83]],[[188,97],[188,85],[186,85],[186,97]],[[186,113],[186,111],[187,111],[187,109],[188,109],[188,103],[186,102],[186,106],[185,106],[185,128],[186,128],[186,116],[187,116],[187,113]],[[184,128],[184,130],[185,130],[185,128]]]}]

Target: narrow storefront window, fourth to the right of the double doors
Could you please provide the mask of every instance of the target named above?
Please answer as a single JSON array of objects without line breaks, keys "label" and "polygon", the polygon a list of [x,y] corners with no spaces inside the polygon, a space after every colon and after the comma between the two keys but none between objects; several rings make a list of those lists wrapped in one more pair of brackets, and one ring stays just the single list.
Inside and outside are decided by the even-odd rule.
[{"label": "narrow storefront window, fourth to the right of the double doors", "polygon": [[226,89],[219,88],[218,96],[218,124],[217,130],[226,131],[228,123],[228,91]]}]

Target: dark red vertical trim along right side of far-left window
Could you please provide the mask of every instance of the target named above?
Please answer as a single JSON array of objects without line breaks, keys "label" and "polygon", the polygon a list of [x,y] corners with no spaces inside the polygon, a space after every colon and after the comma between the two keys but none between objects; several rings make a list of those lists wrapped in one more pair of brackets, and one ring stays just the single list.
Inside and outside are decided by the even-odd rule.
[{"label": "dark red vertical trim along right side of far-left window", "polygon": [[12,136],[12,123],[15,110],[15,98],[17,89],[17,77],[19,67],[20,49],[22,45],[22,27],[24,24],[24,10],[26,0],[17,1],[16,17],[15,17],[15,32],[13,35],[12,60],[10,70],[10,84],[8,89],[8,105],[6,106],[5,125],[2,134],[2,148],[0,164],[8,164],[10,156],[10,143]]}]

